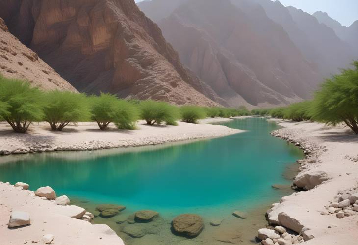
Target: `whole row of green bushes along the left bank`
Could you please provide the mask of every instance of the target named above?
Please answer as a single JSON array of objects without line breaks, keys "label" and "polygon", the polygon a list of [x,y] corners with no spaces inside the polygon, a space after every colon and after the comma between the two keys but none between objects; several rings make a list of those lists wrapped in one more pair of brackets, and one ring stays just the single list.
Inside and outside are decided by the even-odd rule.
[{"label": "whole row of green bushes along the left bank", "polygon": [[115,95],[99,96],[68,91],[43,92],[28,82],[0,76],[0,120],[16,132],[24,133],[32,122],[46,121],[52,130],[61,131],[70,122],[97,122],[101,130],[110,123],[118,129],[135,129],[139,119],[148,125],[177,125],[177,120],[197,123],[206,117],[249,115],[245,109],[173,106],[153,100],[122,100]]}]

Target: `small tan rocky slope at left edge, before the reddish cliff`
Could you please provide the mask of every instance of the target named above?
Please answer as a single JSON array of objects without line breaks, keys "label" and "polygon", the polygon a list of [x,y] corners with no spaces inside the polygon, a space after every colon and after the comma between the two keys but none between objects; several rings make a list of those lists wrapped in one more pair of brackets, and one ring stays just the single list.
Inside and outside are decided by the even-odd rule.
[{"label": "small tan rocky slope at left edge, before the reddish cliff", "polygon": [[38,55],[22,44],[0,18],[0,74],[8,78],[26,79],[44,90],[77,90],[61,78]]}]

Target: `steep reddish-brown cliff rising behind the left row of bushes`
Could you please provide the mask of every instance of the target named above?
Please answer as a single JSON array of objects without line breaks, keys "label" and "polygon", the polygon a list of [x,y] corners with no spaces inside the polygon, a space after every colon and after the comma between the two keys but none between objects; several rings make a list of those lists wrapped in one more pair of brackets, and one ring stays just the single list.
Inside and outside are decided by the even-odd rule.
[{"label": "steep reddish-brown cliff rising behind the left row of bushes", "polygon": [[182,66],[133,0],[3,0],[1,5],[10,31],[79,91],[175,104],[224,103]]}]

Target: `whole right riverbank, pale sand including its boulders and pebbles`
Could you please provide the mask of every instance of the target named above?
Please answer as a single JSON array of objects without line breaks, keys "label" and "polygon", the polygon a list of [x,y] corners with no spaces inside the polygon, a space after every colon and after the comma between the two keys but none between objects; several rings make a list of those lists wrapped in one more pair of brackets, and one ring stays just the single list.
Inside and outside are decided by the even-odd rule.
[{"label": "whole right riverbank, pale sand including its boulders and pebbles", "polygon": [[[305,244],[357,244],[358,136],[343,126],[277,123],[284,128],[272,134],[302,147],[307,155],[298,161],[300,173],[294,180],[295,186],[304,191],[282,197],[274,204],[268,211],[269,224],[300,233]],[[280,244],[298,242],[295,236],[286,238]]]}]

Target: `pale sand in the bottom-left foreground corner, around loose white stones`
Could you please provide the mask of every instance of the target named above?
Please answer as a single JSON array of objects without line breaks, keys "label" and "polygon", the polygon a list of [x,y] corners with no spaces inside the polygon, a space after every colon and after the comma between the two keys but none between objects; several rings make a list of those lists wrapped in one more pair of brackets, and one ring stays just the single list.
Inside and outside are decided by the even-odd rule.
[{"label": "pale sand in the bottom-left foreground corner, around loose white stones", "polygon": [[[41,238],[53,234],[57,245],[124,245],[107,225],[93,225],[64,215],[68,207],[43,200],[33,191],[0,183],[0,244],[43,244]],[[28,212],[31,224],[7,228],[11,211]]]}]

